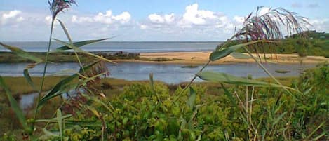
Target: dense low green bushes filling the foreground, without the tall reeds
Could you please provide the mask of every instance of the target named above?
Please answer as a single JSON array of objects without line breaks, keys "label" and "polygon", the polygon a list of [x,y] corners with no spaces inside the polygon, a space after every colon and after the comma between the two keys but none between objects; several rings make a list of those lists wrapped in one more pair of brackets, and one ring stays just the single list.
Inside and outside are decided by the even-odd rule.
[{"label": "dense low green bushes filling the foreground, without the tall reeds", "polygon": [[[281,82],[302,93],[290,95],[281,88],[195,83],[193,89],[177,100],[184,84],[166,86],[160,82],[152,85],[147,81],[104,79],[94,86],[103,90],[105,98],[99,101],[81,96],[62,106],[63,115],[72,115],[62,121],[62,137],[66,140],[100,140],[102,135],[105,140],[246,140],[254,137],[258,140],[328,140],[329,64],[309,69],[295,81],[281,78]],[[121,86],[125,86],[123,90],[116,89]],[[278,99],[279,95],[282,98]],[[1,109],[8,110],[1,110],[1,123],[6,127],[2,128],[3,140],[20,137],[20,123],[8,122],[13,113],[8,102],[1,103]],[[61,104],[60,99],[52,100],[39,116],[51,118]],[[51,122],[55,124],[48,126],[48,130],[58,130],[57,121]],[[41,130],[39,133],[43,134]],[[44,134],[43,137],[60,139],[58,135]]]}]

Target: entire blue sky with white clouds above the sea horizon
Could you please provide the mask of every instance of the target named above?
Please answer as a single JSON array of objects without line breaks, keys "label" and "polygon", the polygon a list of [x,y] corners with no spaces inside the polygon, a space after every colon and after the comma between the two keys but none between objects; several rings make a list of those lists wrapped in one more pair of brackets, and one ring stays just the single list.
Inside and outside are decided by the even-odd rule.
[{"label": "entire blue sky with white clouds above the sea horizon", "polygon": [[[74,41],[225,41],[257,6],[286,8],[329,32],[329,0],[76,0],[58,14]],[[261,11],[262,12],[262,11]],[[48,41],[47,0],[1,0],[0,41]],[[54,38],[65,40],[55,23]]]}]

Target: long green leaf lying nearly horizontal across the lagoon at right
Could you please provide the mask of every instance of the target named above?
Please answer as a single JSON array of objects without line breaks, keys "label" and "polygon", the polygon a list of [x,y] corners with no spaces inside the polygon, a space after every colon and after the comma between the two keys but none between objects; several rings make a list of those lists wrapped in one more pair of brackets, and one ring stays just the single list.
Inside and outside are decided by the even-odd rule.
[{"label": "long green leaf lying nearly horizontal across the lagoon at right", "polygon": [[200,72],[196,74],[196,76],[199,76],[200,79],[206,81],[214,81],[220,83],[230,83],[230,84],[243,85],[243,86],[271,86],[271,87],[281,88],[280,85],[274,83],[245,79],[242,77],[232,76],[221,72]]}]

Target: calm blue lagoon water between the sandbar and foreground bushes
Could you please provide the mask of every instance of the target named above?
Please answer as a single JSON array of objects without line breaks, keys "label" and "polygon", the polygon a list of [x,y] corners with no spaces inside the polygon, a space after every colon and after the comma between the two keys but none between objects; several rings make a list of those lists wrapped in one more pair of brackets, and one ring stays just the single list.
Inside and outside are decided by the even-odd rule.
[{"label": "calm blue lagoon water between the sandbar and foreground bushes", "polygon": [[[28,63],[0,63],[1,76],[23,76],[23,69]],[[149,64],[149,63],[136,63],[136,62],[122,62],[116,65],[107,64],[110,77],[116,79],[126,80],[148,80],[149,74],[154,74],[154,79],[166,83],[181,83],[190,81],[194,74],[201,69],[201,65],[196,68],[182,68],[183,65],[170,65],[170,64]],[[274,76],[298,76],[303,69],[314,67],[315,65],[283,65],[267,63],[264,65],[269,72]],[[68,71],[71,70],[71,71]],[[56,75],[69,75],[72,71],[79,71],[79,64],[75,62],[65,62],[58,64],[49,64],[47,74]],[[290,71],[286,74],[276,73],[276,70]],[[248,76],[253,78],[266,77],[260,67],[255,63],[236,63],[227,65],[209,65],[205,71],[224,72],[234,76]],[[41,76],[43,72],[43,65],[37,65],[33,69],[29,69],[31,76]],[[196,81],[201,81],[197,79]]]}]

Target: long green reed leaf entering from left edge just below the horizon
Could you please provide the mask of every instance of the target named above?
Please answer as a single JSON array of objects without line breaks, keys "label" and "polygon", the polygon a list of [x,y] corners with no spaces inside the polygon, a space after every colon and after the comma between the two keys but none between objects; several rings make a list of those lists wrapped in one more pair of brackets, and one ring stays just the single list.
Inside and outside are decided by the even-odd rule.
[{"label": "long green reed leaf entering from left edge just below the horizon", "polygon": [[9,45],[6,45],[4,43],[1,43],[0,42],[0,45],[1,46],[4,46],[4,48],[7,48],[8,50],[11,50],[15,55],[18,55],[20,56],[21,58],[26,58],[26,59],[29,59],[29,60],[33,60],[34,62],[42,62],[42,59],[41,58],[38,58],[30,53],[27,53],[26,51],[18,48],[18,47],[15,47],[15,46],[9,46]]}]

